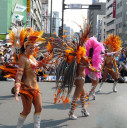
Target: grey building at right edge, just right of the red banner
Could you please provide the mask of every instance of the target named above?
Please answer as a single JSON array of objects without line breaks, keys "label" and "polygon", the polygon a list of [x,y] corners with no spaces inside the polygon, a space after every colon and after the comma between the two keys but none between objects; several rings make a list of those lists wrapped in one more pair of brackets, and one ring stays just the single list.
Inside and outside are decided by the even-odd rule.
[{"label": "grey building at right edge, just right of the red banner", "polygon": [[116,34],[127,45],[127,0],[116,0]]}]

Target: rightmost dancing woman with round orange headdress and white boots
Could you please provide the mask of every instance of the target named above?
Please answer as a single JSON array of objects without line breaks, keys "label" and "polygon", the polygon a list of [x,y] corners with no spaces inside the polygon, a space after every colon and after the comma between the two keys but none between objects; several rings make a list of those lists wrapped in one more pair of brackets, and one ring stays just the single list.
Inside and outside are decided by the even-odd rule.
[{"label": "rightmost dancing woman with round orange headdress and white boots", "polygon": [[[120,37],[117,35],[110,35],[104,43],[108,48],[108,52],[115,53],[121,50],[121,40]],[[112,56],[112,53],[105,54],[105,59],[101,69],[103,70],[103,77],[98,91],[101,91],[103,83],[105,82],[108,74],[110,74],[111,77],[114,79],[113,92],[117,92],[116,84],[118,82],[119,72],[115,58],[114,56]],[[115,70],[113,69],[113,67],[115,67]]]}]

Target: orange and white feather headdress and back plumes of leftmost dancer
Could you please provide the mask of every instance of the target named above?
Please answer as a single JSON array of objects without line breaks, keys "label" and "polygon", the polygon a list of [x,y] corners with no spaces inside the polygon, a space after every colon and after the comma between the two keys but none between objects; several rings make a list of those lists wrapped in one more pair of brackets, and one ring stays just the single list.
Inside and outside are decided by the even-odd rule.
[{"label": "orange and white feather headdress and back plumes of leftmost dancer", "polygon": [[[17,72],[17,66],[15,64],[18,63],[18,60],[21,56],[20,52],[17,54],[16,50],[20,51],[20,49],[23,47],[26,47],[30,44],[35,44],[37,41],[44,42],[44,38],[41,38],[43,31],[34,31],[32,28],[14,28],[13,31],[9,30],[9,41],[12,44],[12,46],[15,48],[14,53],[14,61],[13,63],[7,63],[2,66],[0,66],[0,69],[4,70],[5,77],[15,78],[16,72]],[[38,49],[35,49],[34,55],[36,55],[36,52]]]}]

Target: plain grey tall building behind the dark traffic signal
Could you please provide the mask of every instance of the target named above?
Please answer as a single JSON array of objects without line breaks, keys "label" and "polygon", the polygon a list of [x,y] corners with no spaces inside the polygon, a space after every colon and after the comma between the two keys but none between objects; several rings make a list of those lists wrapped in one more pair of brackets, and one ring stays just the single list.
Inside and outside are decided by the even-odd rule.
[{"label": "plain grey tall building behind the dark traffic signal", "polygon": [[91,25],[90,37],[97,37],[97,15],[105,15],[106,3],[94,3],[93,5],[101,5],[100,10],[88,10],[87,19],[88,23]]}]

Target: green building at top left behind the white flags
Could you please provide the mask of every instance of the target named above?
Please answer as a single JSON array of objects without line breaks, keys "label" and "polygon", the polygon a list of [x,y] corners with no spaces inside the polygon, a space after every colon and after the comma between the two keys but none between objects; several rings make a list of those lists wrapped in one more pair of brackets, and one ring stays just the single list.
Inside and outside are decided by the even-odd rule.
[{"label": "green building at top left behind the white flags", "polygon": [[24,12],[14,12],[15,5],[20,4],[23,6],[27,5],[26,0],[1,0],[0,1],[0,33],[8,33],[12,25],[12,15],[18,13],[23,17],[23,23],[26,23],[26,10]]}]

